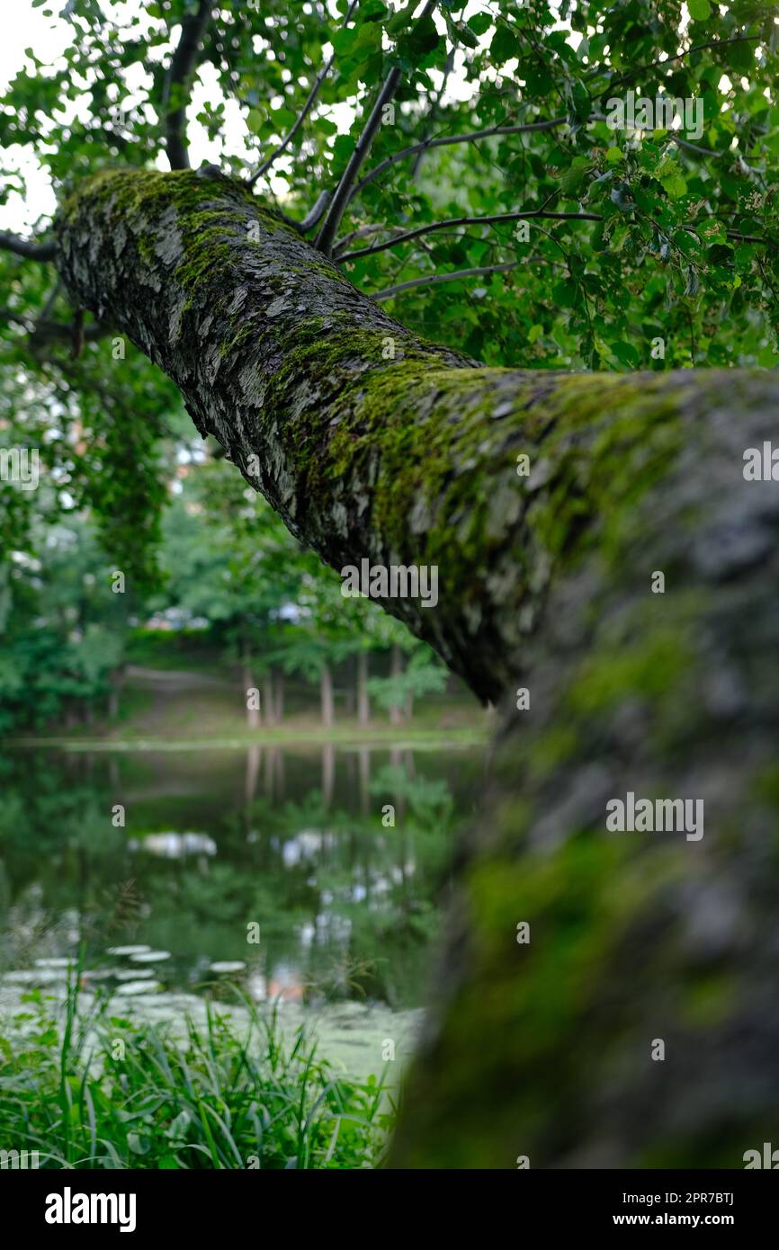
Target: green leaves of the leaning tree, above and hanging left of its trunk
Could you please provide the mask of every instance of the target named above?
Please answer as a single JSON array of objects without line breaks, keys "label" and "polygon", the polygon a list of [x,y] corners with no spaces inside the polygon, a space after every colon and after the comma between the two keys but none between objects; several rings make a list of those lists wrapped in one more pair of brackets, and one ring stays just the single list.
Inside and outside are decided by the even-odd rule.
[{"label": "green leaves of the leaning tree, above and hanging left of its trunk", "polygon": [[[0,142],[16,155],[5,162],[3,201],[16,204],[35,166],[61,196],[98,169],[155,161],[171,92],[186,104],[188,85],[171,84],[168,65],[194,8],[36,6],[41,32],[49,21],[63,51],[46,64],[29,48],[5,94]],[[378,291],[516,261],[481,280],[414,288],[393,311],[494,364],[776,364],[776,4],[696,0],[689,19],[679,0],[491,0],[466,19],[444,0],[424,20],[414,5],[393,11],[360,0],[349,20],[346,8],[339,0],[335,18],[286,0],[219,8],[189,106],[190,131],[209,159],[236,178],[265,165],[331,50],[310,112],[256,190],[293,216],[305,214],[314,188],[333,188],[344,172],[375,84],[398,66],[394,111],[375,134],[341,226],[341,238],[369,235],[341,256],[389,242],[393,229],[448,218],[568,215],[529,221],[528,242],[516,221],[475,221],[346,260],[358,286]],[[443,89],[455,80],[456,90]],[[609,129],[609,101],[629,90],[698,101],[703,134],[685,141],[673,129]],[[549,126],[390,164],[431,138],[523,124]],[[160,439],[183,438],[186,421],[170,382],[133,345],[126,360],[114,359],[110,339],[88,339],[70,360],[73,314],[44,266],[3,252],[0,286],[10,326],[0,356],[6,434],[45,446],[61,506],[93,508],[111,559],[139,584],[154,582],[170,469]],[[651,352],[658,339],[663,356]],[[30,499],[4,489],[1,501],[4,542],[23,544]]]}]

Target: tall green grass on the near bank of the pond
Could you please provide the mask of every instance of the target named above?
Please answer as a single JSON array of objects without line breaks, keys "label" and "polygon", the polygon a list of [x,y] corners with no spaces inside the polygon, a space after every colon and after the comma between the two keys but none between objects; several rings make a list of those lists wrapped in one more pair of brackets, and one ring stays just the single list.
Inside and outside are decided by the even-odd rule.
[{"label": "tall green grass on the near bank of the pond", "polygon": [[[248,1026],[208,1006],[184,1036],[84,1011],[78,971],[64,1019],[33,991],[0,1034],[0,1149],[49,1169],[365,1169],[380,1162],[386,1086],[336,1074],[303,1030],[284,1046],[275,1012],[244,1000]],[[24,1036],[19,1036],[20,1026]]]}]

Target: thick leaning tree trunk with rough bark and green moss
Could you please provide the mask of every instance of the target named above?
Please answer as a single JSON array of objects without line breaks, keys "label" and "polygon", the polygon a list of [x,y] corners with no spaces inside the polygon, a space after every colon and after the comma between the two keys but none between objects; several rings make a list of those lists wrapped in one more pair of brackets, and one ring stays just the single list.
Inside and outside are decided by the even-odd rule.
[{"label": "thick leaning tree trunk with rough bark and green moss", "polygon": [[[59,248],[328,562],[438,566],[384,606],[505,698],[394,1162],[743,1166],[779,1099],[779,486],[743,474],[776,372],[476,368],[223,178],[90,179]],[[609,832],[629,792],[705,835]]]}]

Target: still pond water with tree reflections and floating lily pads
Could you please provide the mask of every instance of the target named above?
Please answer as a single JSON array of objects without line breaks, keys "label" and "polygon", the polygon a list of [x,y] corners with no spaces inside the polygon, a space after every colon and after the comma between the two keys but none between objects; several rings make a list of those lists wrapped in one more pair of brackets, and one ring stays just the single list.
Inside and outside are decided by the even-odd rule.
[{"label": "still pond water with tree reflections and floating lily pads", "polygon": [[[0,759],[0,990],[424,1004],[479,749]],[[393,824],[394,821],[394,824]],[[176,998],[179,996],[179,999]]]}]

